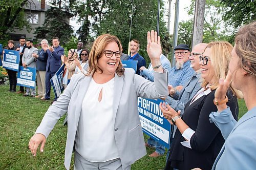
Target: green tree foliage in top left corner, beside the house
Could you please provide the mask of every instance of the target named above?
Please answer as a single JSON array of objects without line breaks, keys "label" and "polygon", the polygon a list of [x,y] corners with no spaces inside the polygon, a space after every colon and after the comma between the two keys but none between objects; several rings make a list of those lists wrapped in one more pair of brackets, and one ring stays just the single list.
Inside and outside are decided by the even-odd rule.
[{"label": "green tree foliage in top left corner, beside the house", "polygon": [[14,27],[27,31],[31,28],[26,20],[23,6],[28,0],[2,0],[0,6],[0,39],[8,39],[8,30],[13,31]]}]

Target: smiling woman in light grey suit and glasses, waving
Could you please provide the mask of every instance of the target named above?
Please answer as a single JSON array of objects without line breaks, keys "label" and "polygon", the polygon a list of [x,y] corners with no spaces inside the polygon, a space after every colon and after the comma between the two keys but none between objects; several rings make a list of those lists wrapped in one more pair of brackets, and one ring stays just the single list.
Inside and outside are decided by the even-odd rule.
[{"label": "smiling woman in light grey suit and glasses, waving", "polygon": [[[168,95],[167,73],[160,62],[160,37],[147,33],[147,53],[155,71],[155,82],[122,68],[121,43],[104,34],[93,44],[87,74],[75,74],[62,95],[42,119],[29,148],[42,152],[46,138],[58,119],[68,111],[65,167],[70,168],[74,149],[75,169],[130,169],[146,155],[138,114],[138,97]],[[115,55],[114,55],[115,54]]]}]

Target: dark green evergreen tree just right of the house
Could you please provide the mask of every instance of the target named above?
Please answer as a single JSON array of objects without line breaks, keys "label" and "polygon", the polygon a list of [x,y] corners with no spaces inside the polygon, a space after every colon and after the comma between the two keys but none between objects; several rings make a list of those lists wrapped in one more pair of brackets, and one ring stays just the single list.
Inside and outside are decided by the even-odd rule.
[{"label": "dark green evergreen tree just right of the house", "polygon": [[36,38],[52,39],[59,37],[61,44],[66,45],[72,37],[73,29],[69,25],[69,14],[59,8],[51,7],[46,11],[46,20],[42,27],[37,27]]}]

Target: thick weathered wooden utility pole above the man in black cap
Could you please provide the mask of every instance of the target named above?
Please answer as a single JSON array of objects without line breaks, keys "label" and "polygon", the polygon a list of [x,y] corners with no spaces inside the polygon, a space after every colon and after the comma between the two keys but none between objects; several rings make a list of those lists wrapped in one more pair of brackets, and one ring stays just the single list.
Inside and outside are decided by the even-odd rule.
[{"label": "thick weathered wooden utility pole above the man in black cap", "polygon": [[195,45],[203,42],[204,9],[205,9],[205,0],[196,0],[194,26],[193,26],[193,40],[192,40],[191,49]]}]

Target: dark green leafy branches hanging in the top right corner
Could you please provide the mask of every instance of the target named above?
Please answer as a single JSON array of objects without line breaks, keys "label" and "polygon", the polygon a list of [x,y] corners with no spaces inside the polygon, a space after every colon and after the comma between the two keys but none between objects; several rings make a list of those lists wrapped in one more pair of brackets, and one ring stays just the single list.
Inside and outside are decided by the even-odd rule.
[{"label": "dark green leafy branches hanging in the top right corner", "polygon": [[221,4],[228,9],[224,11],[223,19],[234,28],[256,20],[254,0],[221,0]]}]

